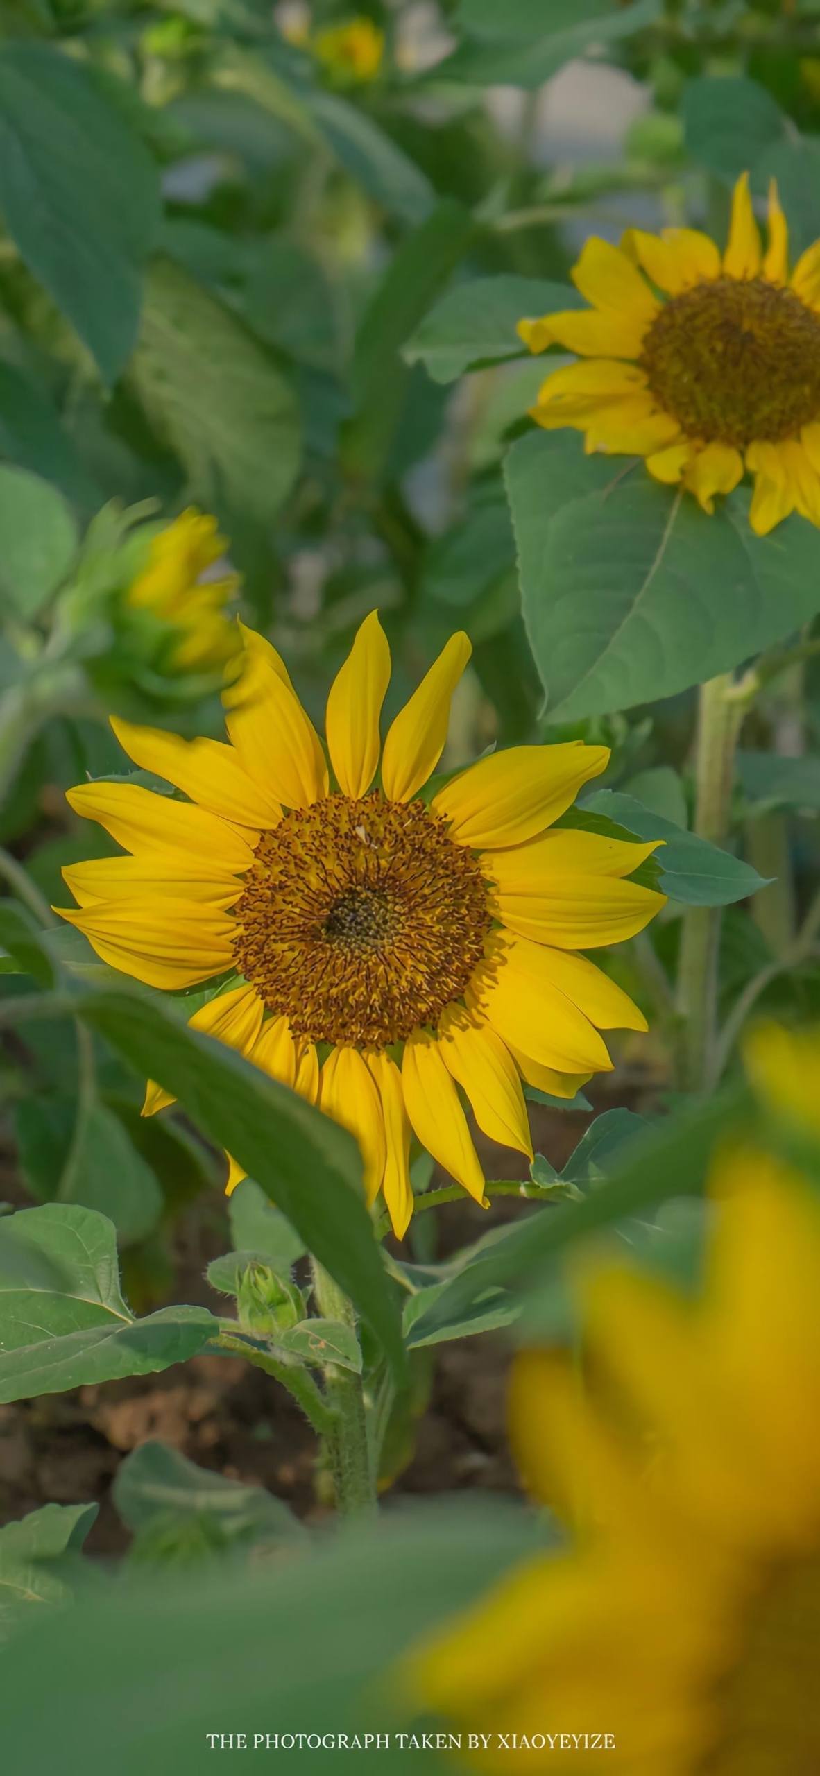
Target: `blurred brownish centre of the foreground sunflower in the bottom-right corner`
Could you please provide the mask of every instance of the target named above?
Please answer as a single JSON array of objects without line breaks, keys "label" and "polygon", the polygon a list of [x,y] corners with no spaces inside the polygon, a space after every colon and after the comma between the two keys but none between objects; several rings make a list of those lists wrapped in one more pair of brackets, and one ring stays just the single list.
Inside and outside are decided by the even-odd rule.
[{"label": "blurred brownish centre of the foreground sunflower in the bottom-right corner", "polygon": [[722,1739],[703,1776],[820,1769],[820,1556],[776,1568],[744,1613],[740,1657],[719,1691]]}]

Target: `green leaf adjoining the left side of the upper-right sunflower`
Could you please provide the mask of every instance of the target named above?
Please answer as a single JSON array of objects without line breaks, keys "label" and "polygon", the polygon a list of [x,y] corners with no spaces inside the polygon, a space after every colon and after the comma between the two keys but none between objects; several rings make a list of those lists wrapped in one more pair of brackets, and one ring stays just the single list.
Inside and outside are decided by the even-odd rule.
[{"label": "green leaf adjoining the left side of the upper-right sunflower", "polygon": [[575,309],[580,302],[572,284],[541,277],[472,277],[447,289],[430,309],[406,341],[405,359],[424,364],[433,382],[454,382],[465,369],[529,357],[516,323]]}]

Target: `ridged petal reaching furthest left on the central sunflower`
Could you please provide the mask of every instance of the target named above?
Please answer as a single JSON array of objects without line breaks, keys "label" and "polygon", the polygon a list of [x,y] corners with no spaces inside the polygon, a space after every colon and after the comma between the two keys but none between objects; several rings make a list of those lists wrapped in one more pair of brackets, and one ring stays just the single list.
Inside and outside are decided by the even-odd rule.
[{"label": "ridged petal reaching furthest left on the central sunflower", "polygon": [[80,913],[57,908],[83,931],[103,963],[149,987],[192,987],[222,975],[233,963],[234,920],[195,900],[94,902]]}]

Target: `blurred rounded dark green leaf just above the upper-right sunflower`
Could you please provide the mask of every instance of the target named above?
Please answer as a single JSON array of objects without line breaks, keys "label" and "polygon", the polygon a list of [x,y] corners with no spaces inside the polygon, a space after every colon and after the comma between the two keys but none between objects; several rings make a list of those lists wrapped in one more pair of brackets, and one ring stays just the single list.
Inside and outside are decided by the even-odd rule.
[{"label": "blurred rounded dark green leaf just above the upper-right sunflower", "polygon": [[687,80],[682,114],[692,160],[728,183],[790,130],[767,89],[742,75]]}]

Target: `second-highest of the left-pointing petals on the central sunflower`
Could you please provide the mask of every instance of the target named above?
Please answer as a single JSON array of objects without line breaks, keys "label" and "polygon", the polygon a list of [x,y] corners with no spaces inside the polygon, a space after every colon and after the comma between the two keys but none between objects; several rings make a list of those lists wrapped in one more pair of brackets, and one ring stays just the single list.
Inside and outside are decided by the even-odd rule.
[{"label": "second-highest of the left-pointing petals on the central sunflower", "polygon": [[85,821],[105,826],[126,851],[162,852],[174,861],[195,858],[209,876],[222,876],[225,886],[254,861],[247,836],[217,813],[138,783],[78,783],[66,790],[66,801]]}]

